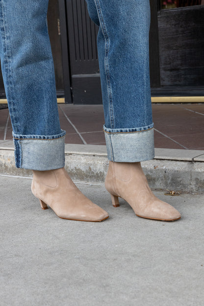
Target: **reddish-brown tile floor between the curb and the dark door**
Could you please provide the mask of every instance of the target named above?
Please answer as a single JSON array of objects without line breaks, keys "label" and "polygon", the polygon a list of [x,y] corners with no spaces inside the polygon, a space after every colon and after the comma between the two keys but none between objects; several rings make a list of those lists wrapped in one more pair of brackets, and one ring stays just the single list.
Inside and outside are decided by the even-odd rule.
[{"label": "reddish-brown tile floor between the curb and the dark door", "polygon": [[[204,103],[152,104],[155,148],[204,150]],[[102,105],[58,104],[65,142],[105,145]],[[0,140],[12,139],[8,109],[0,109]]]}]

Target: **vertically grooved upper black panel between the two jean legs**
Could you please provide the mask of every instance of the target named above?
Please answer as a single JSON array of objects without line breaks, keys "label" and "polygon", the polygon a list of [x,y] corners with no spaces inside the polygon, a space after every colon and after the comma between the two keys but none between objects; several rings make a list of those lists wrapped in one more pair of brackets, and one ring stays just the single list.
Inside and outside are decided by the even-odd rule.
[{"label": "vertically grooved upper black panel between the two jean legs", "polygon": [[98,27],[91,21],[85,0],[67,0],[71,74],[99,73]]}]

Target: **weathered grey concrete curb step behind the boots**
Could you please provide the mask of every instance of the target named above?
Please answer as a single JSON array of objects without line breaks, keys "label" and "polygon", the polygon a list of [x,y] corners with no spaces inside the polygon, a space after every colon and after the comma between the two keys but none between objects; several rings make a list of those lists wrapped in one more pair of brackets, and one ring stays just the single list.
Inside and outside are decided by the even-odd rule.
[{"label": "weathered grey concrete curb step behind the boots", "polygon": [[[154,159],[141,164],[153,189],[204,192],[204,151],[155,149]],[[75,181],[103,183],[106,147],[66,144],[65,168]],[[15,167],[13,141],[0,141],[0,174],[32,176],[31,170]]]}]

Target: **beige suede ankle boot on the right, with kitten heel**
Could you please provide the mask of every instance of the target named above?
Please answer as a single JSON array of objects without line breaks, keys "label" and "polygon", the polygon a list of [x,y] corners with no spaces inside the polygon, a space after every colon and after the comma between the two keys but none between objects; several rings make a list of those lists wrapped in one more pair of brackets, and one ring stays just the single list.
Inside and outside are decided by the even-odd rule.
[{"label": "beige suede ankle boot on the right, with kitten heel", "polygon": [[111,194],[114,207],[119,206],[120,197],[128,202],[139,217],[162,221],[180,219],[180,213],[173,206],[154,196],[140,162],[109,161],[105,188]]}]

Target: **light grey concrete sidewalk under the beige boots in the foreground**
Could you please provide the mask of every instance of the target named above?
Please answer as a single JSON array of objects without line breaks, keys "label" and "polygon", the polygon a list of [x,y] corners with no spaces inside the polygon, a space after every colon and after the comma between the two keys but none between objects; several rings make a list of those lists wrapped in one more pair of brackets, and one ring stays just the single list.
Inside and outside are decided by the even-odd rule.
[{"label": "light grey concrete sidewalk under the beige boots in the foreground", "polygon": [[0,176],[0,306],[201,306],[204,195],[165,196],[182,219],[159,222],[114,208],[102,184],[77,183],[109,213],[101,223],[58,218],[30,178]]}]

